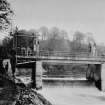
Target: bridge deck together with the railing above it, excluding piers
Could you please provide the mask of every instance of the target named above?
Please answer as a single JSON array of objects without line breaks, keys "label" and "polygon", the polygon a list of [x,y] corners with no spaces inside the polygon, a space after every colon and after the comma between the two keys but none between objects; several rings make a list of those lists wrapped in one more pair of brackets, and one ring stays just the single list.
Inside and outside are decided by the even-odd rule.
[{"label": "bridge deck together with the railing above it, excluding piers", "polygon": [[31,53],[22,55],[17,53],[18,60],[26,61],[43,61],[49,63],[81,63],[81,64],[102,64],[105,62],[105,56],[101,55],[91,55],[88,52],[61,52],[61,51],[39,51],[38,54]]}]

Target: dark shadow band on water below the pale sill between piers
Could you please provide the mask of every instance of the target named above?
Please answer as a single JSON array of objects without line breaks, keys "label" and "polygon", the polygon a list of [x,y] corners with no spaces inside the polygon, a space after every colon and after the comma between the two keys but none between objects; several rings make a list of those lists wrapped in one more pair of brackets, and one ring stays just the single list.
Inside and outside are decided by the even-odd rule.
[{"label": "dark shadow band on water below the pale sill between piers", "polygon": [[87,80],[43,80],[43,87],[94,87],[93,82]]}]

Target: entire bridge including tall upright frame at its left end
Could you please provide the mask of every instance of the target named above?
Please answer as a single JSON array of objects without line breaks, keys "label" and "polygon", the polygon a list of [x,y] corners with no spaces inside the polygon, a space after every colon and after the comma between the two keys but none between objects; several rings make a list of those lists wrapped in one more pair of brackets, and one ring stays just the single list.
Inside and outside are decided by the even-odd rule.
[{"label": "entire bridge including tall upright frame at its left end", "polygon": [[[30,37],[32,39],[32,47],[34,51],[21,52],[21,39],[22,37]],[[24,38],[23,38],[24,39]],[[24,33],[16,32],[13,38],[13,47],[16,48],[17,67],[31,68],[32,80],[35,87],[42,86],[42,63],[47,62],[53,65],[69,65],[69,64],[86,64],[88,71],[94,71],[95,80],[101,80],[102,91],[105,91],[105,56],[101,54],[90,54],[89,52],[66,52],[66,51],[42,51],[39,50],[38,35],[26,35]],[[18,47],[20,47],[18,49]],[[27,49],[29,46],[25,47]],[[94,65],[95,69],[91,66]],[[40,81],[40,82],[37,82]]]}]

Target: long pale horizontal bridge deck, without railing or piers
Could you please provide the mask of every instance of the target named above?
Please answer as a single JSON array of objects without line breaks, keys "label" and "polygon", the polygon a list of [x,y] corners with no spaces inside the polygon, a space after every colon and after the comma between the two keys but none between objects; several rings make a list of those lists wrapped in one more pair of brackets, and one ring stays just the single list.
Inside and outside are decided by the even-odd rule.
[{"label": "long pale horizontal bridge deck, without railing or piers", "polygon": [[19,60],[26,60],[31,63],[32,61],[40,60],[52,64],[68,64],[68,63],[81,63],[81,64],[102,64],[105,62],[103,57],[57,57],[57,56],[17,56]]}]

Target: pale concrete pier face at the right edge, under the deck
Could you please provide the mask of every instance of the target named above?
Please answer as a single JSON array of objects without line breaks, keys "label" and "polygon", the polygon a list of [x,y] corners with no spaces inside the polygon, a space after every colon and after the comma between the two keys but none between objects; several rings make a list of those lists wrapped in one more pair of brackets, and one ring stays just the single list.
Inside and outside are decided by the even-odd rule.
[{"label": "pale concrete pier face at the right edge, under the deck", "polygon": [[105,64],[101,65],[101,82],[102,91],[105,92]]}]

